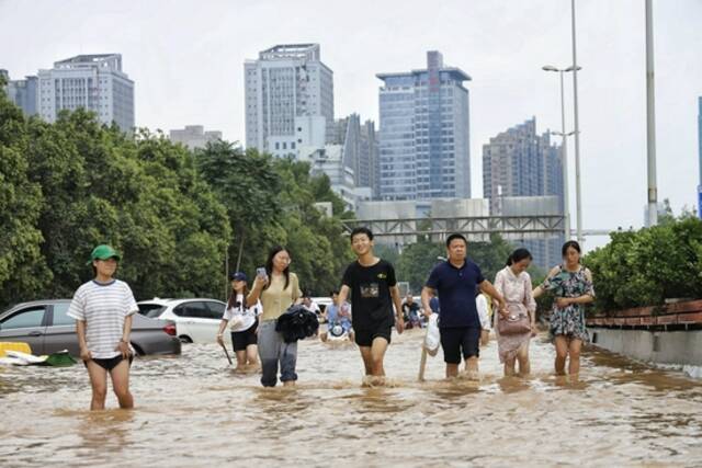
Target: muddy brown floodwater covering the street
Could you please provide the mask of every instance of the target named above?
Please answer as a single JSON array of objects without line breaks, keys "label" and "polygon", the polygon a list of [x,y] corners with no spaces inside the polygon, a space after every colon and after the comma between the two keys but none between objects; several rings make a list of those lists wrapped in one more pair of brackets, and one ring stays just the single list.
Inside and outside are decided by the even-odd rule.
[{"label": "muddy brown floodwater covering the street", "polygon": [[349,343],[302,342],[294,390],[233,373],[214,343],[184,345],[135,361],[134,411],[113,393],[87,411],[82,365],[0,367],[0,466],[702,465],[699,380],[587,351],[570,383],[540,336],[530,379],[501,377],[492,341],[479,383],[444,381],[439,353],[420,384],[422,336],[393,336],[388,388],[361,387]]}]

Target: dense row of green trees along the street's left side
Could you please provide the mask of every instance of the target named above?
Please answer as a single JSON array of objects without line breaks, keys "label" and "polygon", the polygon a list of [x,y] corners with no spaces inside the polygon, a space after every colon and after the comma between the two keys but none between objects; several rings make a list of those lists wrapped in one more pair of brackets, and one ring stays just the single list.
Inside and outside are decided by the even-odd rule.
[{"label": "dense row of green trees along the street's left side", "polygon": [[239,252],[251,275],[275,243],[291,250],[303,287],[326,294],[351,252],[320,201],[348,216],[306,164],[224,141],[192,152],[84,111],[48,124],[0,92],[0,306],[70,297],[103,242],[122,252],[117,276],[139,299],[223,297]]}]

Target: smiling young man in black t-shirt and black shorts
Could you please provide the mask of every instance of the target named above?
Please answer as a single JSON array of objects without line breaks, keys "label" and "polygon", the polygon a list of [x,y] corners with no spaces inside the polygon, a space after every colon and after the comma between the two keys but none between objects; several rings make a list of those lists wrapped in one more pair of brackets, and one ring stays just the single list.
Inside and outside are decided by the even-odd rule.
[{"label": "smiling young man in black t-shirt and black shorts", "polygon": [[[376,377],[373,384],[382,384],[385,376],[383,358],[390,342],[393,323],[398,333],[405,329],[395,269],[373,254],[373,232],[367,228],[353,229],[351,248],[358,260],[343,274],[339,304],[351,295],[351,319],[365,375]],[[396,320],[393,318],[393,304]]]}]

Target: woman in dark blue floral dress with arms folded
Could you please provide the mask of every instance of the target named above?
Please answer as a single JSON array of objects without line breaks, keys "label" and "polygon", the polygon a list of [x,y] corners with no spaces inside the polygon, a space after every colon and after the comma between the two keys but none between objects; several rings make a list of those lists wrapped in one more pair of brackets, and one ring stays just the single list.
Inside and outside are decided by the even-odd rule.
[{"label": "woman in dark blue floral dress with arms folded", "polygon": [[544,290],[553,290],[556,296],[551,315],[551,336],[556,346],[555,368],[557,375],[565,375],[566,358],[568,374],[580,372],[580,347],[589,341],[585,328],[585,305],[595,299],[592,274],[580,265],[580,246],[574,240],[563,244],[563,265],[555,266],[546,279],[537,286],[534,298]]}]

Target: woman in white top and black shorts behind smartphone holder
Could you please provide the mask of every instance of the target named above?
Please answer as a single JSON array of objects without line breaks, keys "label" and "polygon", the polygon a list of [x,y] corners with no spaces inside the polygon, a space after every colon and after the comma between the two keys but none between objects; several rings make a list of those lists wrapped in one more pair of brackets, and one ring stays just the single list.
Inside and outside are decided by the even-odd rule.
[{"label": "woman in white top and black shorts behind smartphone holder", "polygon": [[229,323],[231,330],[231,346],[237,356],[237,370],[244,372],[259,367],[258,359],[258,317],[262,312],[261,303],[247,307],[246,297],[249,294],[247,277],[244,272],[231,274],[231,294],[227,308],[217,331],[217,343],[224,345],[223,333]]}]

